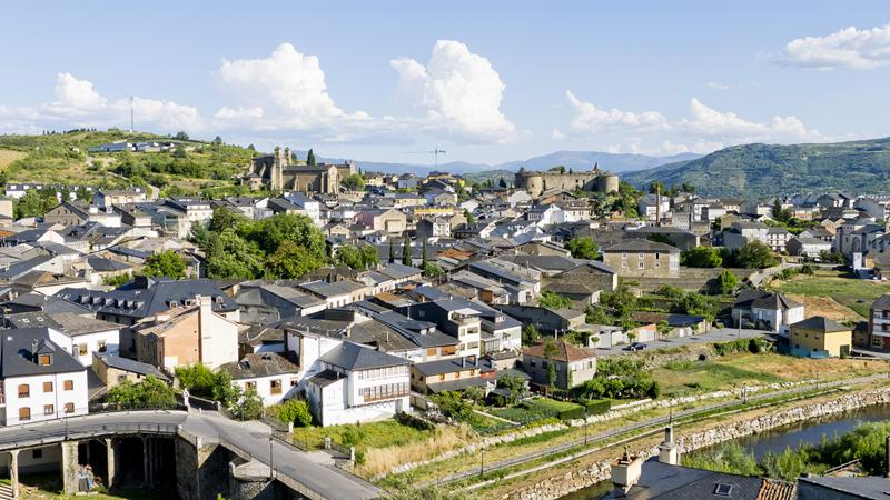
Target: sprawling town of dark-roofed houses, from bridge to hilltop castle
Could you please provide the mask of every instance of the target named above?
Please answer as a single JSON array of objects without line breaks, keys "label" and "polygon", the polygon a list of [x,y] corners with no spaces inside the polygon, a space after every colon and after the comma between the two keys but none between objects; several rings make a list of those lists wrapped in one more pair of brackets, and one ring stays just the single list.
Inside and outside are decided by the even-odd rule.
[{"label": "sprawling town of dark-roofed houses, from bridge to hilltop castle", "polygon": [[[88,150],[113,172],[214,143],[182,132]],[[218,197],[165,193],[132,181],[136,169],[111,188],[7,182],[0,461],[11,497],[40,488],[28,477],[52,477],[66,494],[255,498],[245,484],[276,473],[274,498],[526,498],[542,481],[555,498],[610,472],[624,493],[666,488],[666,476],[685,488],[703,472],[676,468],[681,454],[751,432],[746,420],[719,436],[695,422],[768,408],[783,419],[761,416],[767,429],[794,421],[788,404],[831,414],[825,401],[890,401],[874,388],[890,378],[890,197],[711,197],[632,186],[600,164],[482,181],[387,174],[288,147],[251,149],[237,167],[237,194]],[[145,411],[158,413],[116,417]],[[158,421],[166,430],[152,431]],[[237,441],[254,439],[246,421],[266,429],[268,462]],[[63,427],[34,427],[53,422]],[[226,480],[180,472],[204,460],[212,438],[187,430],[200,426],[233,457],[231,473],[214,472]],[[23,438],[30,429],[46,438]],[[191,436],[190,459],[169,433]],[[883,448],[870,453],[708,481],[830,498],[839,484],[872,487],[794,480],[853,462],[883,476]],[[307,481],[299,466],[271,469],[286,457],[342,470],[346,489]],[[572,460],[589,472],[571,487],[535,476]]]}]

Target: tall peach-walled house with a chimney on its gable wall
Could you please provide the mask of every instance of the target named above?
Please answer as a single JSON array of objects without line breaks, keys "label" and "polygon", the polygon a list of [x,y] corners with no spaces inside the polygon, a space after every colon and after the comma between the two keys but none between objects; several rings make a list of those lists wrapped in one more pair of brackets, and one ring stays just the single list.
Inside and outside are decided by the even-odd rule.
[{"label": "tall peach-walled house with a chimney on its gable wall", "polygon": [[156,314],[134,327],[139,361],[172,370],[202,363],[210,369],[238,361],[238,323],[212,310],[210,297],[196,306]]}]

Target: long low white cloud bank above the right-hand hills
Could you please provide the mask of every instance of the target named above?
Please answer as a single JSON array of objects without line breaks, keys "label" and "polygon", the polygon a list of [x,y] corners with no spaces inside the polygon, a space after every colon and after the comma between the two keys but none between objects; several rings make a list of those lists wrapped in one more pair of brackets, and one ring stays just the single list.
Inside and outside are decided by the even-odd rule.
[{"label": "long low white cloud bank above the right-hand hills", "polygon": [[[668,119],[657,111],[605,110],[582,101],[571,91],[566,98],[574,109],[570,132],[563,140],[600,139],[610,151],[642,154],[711,152],[748,142],[819,142],[829,140],[794,117],[773,117],[765,122],[745,119],[733,111],[719,111],[691,99],[689,117]],[[554,137],[555,139],[555,137]]]}]

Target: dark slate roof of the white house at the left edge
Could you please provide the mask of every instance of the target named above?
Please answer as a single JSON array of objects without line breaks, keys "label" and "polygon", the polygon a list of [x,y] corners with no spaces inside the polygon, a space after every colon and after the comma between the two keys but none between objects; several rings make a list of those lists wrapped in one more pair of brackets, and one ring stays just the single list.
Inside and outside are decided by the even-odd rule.
[{"label": "dark slate roof of the white house at the left edge", "polygon": [[[0,341],[0,376],[24,377],[33,374],[70,373],[85,371],[87,368],[78,362],[67,350],[49,339],[46,328],[24,328],[20,330],[2,330]],[[36,342],[36,343],[34,343]],[[31,353],[33,347],[38,353],[52,354],[52,363],[40,366]]]}]

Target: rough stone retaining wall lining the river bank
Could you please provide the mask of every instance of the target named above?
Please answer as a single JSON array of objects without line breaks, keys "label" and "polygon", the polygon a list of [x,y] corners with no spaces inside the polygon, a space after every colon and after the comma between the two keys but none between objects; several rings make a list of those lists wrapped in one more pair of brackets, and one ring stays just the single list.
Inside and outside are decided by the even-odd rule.
[{"label": "rough stone retaining wall lining the river bank", "polygon": [[[839,414],[876,404],[890,403],[890,389],[877,389],[843,394],[834,400],[803,404],[800,407],[767,413],[754,419],[733,424],[721,424],[692,434],[676,437],[682,453],[708,448],[725,441],[777,429],[810,419]],[[636,454],[649,458],[659,454],[657,447],[637,450]],[[573,491],[586,488],[610,478],[610,461],[597,461],[581,469],[542,479],[534,486],[518,488],[503,496],[504,499],[548,500],[558,499]]]}]

